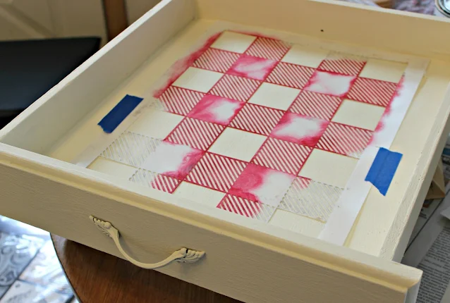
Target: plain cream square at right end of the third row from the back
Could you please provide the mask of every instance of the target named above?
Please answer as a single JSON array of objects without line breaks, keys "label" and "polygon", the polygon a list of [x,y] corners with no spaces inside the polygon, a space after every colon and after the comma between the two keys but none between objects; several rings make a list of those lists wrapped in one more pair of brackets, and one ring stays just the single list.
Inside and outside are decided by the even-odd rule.
[{"label": "plain cream square at right end of the third row from the back", "polygon": [[366,130],[375,130],[383,113],[384,107],[382,106],[345,99],[332,121]]}]

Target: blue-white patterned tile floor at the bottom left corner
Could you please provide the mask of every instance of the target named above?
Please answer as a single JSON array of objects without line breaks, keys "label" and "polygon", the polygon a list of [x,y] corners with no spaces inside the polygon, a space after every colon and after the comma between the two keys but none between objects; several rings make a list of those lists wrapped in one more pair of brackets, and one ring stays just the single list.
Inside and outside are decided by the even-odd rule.
[{"label": "blue-white patterned tile floor at the bottom left corner", "polygon": [[0,216],[0,303],[78,302],[49,233]]}]

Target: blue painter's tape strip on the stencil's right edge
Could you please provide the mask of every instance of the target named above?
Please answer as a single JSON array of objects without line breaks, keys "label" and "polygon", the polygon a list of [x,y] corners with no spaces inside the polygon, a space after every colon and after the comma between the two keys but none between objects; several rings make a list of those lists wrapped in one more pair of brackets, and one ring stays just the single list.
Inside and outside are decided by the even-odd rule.
[{"label": "blue painter's tape strip on the stencil's right edge", "polygon": [[389,185],[391,185],[392,178],[394,178],[395,171],[399,166],[401,156],[403,155],[398,152],[380,148],[372,166],[370,166],[369,173],[365,177],[365,180],[377,187],[383,196],[386,196],[387,190],[389,190]]}]

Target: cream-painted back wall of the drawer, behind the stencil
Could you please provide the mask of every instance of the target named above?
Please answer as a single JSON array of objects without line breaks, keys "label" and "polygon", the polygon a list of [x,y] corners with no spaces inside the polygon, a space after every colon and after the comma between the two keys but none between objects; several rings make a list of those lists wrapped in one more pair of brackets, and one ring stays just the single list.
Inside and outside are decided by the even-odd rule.
[{"label": "cream-painted back wall of the drawer, behind the stencil", "polygon": [[[444,60],[450,54],[450,41],[442,39],[444,32],[450,30],[448,18],[327,0],[267,1],[264,6],[259,0],[197,0],[197,4],[200,18],[205,19],[301,32],[310,37]],[[274,15],[279,18],[273,18]],[[355,25],[363,32],[356,34]],[[416,37],[421,37],[420,41]]]}]

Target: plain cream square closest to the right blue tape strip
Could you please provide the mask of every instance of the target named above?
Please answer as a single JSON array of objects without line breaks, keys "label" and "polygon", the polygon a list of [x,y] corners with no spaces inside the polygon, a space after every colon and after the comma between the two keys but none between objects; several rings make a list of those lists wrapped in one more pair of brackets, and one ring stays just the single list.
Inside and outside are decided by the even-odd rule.
[{"label": "plain cream square closest to the right blue tape strip", "polygon": [[345,188],[358,159],[314,149],[298,175]]}]

